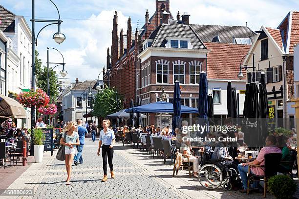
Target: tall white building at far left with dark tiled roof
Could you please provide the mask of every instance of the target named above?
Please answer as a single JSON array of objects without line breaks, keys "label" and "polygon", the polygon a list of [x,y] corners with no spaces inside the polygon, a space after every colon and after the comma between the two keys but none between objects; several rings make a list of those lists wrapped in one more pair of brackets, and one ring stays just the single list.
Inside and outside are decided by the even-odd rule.
[{"label": "tall white building at far left with dark tiled roof", "polygon": [[[23,16],[16,16],[0,6],[0,31],[8,38],[7,45],[7,93],[19,94],[31,88],[31,30]],[[30,126],[30,108],[26,109],[27,119],[18,122]]]}]

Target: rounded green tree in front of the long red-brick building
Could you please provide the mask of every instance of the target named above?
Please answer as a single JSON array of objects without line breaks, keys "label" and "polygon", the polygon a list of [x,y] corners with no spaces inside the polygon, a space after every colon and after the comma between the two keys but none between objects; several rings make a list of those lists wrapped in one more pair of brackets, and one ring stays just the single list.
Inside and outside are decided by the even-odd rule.
[{"label": "rounded green tree in front of the long red-brick building", "polygon": [[106,87],[94,96],[94,100],[92,103],[92,115],[96,117],[106,118],[107,115],[115,113],[117,111],[116,95],[119,101],[118,110],[123,109],[123,97],[117,94],[114,89],[109,89]]}]

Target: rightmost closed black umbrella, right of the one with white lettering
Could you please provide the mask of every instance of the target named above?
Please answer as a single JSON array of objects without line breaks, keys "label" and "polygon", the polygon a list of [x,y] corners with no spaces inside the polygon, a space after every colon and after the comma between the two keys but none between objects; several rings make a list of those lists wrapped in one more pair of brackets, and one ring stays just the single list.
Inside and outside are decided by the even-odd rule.
[{"label": "rightmost closed black umbrella, right of the one with white lettering", "polygon": [[263,141],[268,136],[268,96],[266,87],[266,77],[265,73],[260,75],[259,84],[259,107],[260,107],[260,118],[261,118],[261,138],[259,145],[263,144]]}]

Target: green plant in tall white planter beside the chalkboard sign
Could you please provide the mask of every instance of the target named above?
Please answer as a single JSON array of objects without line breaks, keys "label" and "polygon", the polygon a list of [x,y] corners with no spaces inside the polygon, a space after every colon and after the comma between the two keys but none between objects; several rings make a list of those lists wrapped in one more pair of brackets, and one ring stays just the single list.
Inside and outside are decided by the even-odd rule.
[{"label": "green plant in tall white planter beside the chalkboard sign", "polygon": [[33,149],[34,149],[34,159],[35,162],[42,162],[43,161],[43,141],[45,136],[43,134],[42,129],[34,129],[33,135]]}]

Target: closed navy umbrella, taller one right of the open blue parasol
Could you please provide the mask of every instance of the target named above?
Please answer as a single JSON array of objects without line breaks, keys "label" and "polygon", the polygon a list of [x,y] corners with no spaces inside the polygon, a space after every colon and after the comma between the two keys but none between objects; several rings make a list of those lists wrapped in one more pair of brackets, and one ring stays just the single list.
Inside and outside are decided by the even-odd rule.
[{"label": "closed navy umbrella, taller one right of the open blue parasol", "polygon": [[[200,73],[199,81],[199,99],[198,99],[198,113],[199,113],[199,125],[209,125],[208,121],[208,82],[207,75],[204,72]],[[207,132],[200,132],[200,137],[206,137]]]}]

